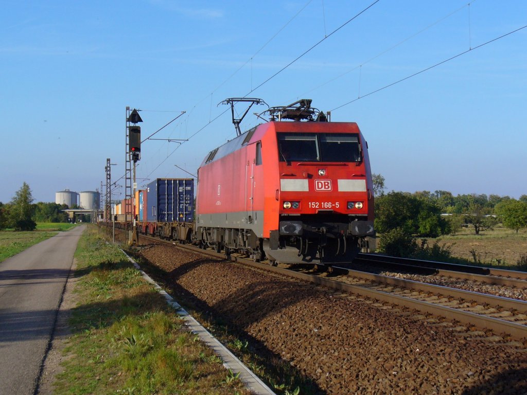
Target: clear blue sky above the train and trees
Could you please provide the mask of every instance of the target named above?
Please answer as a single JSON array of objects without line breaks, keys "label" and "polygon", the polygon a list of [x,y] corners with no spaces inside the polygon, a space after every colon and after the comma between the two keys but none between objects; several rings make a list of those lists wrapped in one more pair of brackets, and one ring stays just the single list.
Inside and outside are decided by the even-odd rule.
[{"label": "clear blue sky above the train and trees", "polygon": [[126,106],[143,137],[182,111],[155,137],[192,136],[143,143],[139,185],[196,174],[236,136],[217,104],[244,95],[357,122],[388,190],[527,193],[527,28],[367,95],[527,25],[527,2],[380,0],[330,35],[373,2],[4,0],[0,201],[99,188],[107,157],[119,179]]}]

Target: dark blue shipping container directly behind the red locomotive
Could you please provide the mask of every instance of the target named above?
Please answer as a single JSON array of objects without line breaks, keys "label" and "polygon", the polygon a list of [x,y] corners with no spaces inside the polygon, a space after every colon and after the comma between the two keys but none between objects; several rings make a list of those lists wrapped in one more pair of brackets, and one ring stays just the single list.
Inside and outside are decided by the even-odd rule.
[{"label": "dark blue shipping container directly behind the red locomotive", "polygon": [[157,179],[148,184],[148,222],[192,222],[194,180]]}]

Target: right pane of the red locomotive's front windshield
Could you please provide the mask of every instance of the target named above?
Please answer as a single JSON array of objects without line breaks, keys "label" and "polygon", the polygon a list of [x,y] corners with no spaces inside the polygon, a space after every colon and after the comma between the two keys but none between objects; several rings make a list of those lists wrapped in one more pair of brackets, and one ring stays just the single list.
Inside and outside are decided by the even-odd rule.
[{"label": "right pane of the red locomotive's front windshield", "polygon": [[353,134],[321,133],[320,156],[323,162],[360,161],[359,138]]}]

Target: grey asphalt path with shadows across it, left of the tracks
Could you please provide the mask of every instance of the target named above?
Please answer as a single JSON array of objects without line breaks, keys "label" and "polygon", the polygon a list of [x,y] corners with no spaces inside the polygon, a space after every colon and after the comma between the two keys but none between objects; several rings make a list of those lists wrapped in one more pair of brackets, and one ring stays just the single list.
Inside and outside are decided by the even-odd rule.
[{"label": "grey asphalt path with shadows across it, left of the tracks", "polygon": [[0,395],[33,394],[85,225],[0,263]]}]

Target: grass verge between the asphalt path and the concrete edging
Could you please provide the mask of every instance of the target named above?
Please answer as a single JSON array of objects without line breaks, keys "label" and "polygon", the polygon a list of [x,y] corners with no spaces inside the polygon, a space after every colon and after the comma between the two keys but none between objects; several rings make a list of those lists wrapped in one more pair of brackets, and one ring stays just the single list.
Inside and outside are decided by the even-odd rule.
[{"label": "grass verge between the asphalt path and the concrete edging", "polygon": [[248,394],[125,256],[87,229],[56,394]]}]

